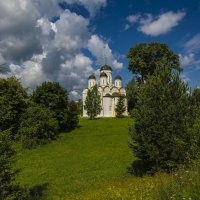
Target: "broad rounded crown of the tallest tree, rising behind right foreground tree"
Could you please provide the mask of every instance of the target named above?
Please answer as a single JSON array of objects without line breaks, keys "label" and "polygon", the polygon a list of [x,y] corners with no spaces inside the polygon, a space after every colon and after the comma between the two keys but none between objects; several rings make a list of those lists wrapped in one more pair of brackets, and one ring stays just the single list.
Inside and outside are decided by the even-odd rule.
[{"label": "broad rounded crown of the tallest tree, rising behind right foreground tree", "polygon": [[164,68],[166,65],[170,69],[181,71],[179,56],[174,54],[166,44],[158,42],[140,43],[132,47],[129,52],[128,69],[137,75],[137,80],[141,83],[152,75],[156,68]]}]

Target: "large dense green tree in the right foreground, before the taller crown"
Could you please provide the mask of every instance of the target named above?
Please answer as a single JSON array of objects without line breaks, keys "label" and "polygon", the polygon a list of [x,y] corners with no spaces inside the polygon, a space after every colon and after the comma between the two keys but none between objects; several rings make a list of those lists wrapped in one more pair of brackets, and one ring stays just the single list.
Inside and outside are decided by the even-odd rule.
[{"label": "large dense green tree in the right foreground, before the taller crown", "polygon": [[134,154],[148,172],[171,170],[190,157],[187,85],[169,68],[158,69],[140,87],[130,131]]}]

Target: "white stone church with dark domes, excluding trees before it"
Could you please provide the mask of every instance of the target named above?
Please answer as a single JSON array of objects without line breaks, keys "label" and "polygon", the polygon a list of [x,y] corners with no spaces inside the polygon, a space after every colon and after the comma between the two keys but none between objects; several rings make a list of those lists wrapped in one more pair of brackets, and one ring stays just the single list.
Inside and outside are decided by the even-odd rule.
[{"label": "white stone church with dark domes, excluding trees before it", "polygon": [[[90,75],[88,78],[88,88],[83,90],[83,117],[88,117],[87,111],[84,109],[85,99],[87,97],[87,92],[94,85],[98,86],[98,91],[101,96],[101,113],[98,117],[115,117],[115,108],[118,102],[118,96],[120,94],[126,96],[126,90],[122,87],[121,76],[116,76],[114,80],[114,85],[112,84],[112,68],[108,65],[104,65],[100,69],[99,83],[94,75]],[[127,112],[127,100],[125,98],[126,111],[124,116],[128,115]]]}]

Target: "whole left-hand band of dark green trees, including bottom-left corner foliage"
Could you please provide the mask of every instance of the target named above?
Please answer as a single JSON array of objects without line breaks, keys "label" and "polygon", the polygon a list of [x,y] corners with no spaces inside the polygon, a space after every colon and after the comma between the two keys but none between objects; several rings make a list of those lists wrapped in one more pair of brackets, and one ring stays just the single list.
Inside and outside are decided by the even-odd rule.
[{"label": "whole left-hand band of dark green trees, including bottom-left corner foliage", "polygon": [[38,195],[15,182],[13,144],[30,149],[55,140],[78,126],[78,115],[77,103],[57,82],[44,82],[29,95],[15,77],[0,79],[0,200]]}]

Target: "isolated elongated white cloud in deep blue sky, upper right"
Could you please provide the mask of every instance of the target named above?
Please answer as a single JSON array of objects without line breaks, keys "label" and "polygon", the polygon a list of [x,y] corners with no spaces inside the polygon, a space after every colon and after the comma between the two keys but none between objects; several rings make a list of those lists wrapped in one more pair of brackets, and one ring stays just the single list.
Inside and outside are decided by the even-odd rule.
[{"label": "isolated elongated white cloud in deep blue sky, upper right", "polygon": [[[185,15],[186,12],[184,11],[169,11],[161,13],[158,16],[153,16],[152,14],[136,14],[128,16],[127,21],[129,22],[129,26],[138,22],[139,26],[137,30],[145,35],[158,36],[171,31]],[[128,25],[125,26],[125,29],[129,28]]]}]

